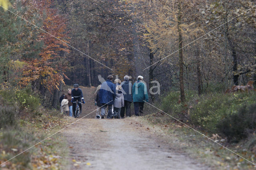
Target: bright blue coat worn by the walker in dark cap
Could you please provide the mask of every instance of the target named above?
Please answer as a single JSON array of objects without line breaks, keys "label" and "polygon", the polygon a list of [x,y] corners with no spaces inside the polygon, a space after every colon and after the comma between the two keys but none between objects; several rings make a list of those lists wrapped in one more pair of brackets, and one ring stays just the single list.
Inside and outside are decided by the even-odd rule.
[{"label": "bright blue coat worn by the walker in dark cap", "polygon": [[99,100],[102,104],[113,104],[114,98],[116,97],[116,85],[110,80],[103,82],[100,88]]}]

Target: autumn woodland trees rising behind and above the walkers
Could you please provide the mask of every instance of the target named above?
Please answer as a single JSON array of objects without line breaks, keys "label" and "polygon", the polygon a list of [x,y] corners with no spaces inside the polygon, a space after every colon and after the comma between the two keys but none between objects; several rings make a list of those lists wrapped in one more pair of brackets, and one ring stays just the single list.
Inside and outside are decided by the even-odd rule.
[{"label": "autumn woodland trees rising behind and above the walkers", "polygon": [[[202,94],[209,88],[223,90],[249,80],[255,84],[253,1],[12,0],[10,3],[9,9],[15,14],[63,42],[1,10],[0,81],[20,87],[31,84],[42,96],[51,96],[46,103],[54,108],[64,82],[97,86],[98,74],[103,78],[108,74],[118,75],[121,80],[128,74],[133,81],[142,75],[149,88],[154,85],[150,81],[157,80],[162,92],[180,89],[182,101],[184,89]],[[252,9],[231,20],[249,8]],[[148,68],[151,64],[154,65]],[[154,98],[157,96],[151,96]]]}]

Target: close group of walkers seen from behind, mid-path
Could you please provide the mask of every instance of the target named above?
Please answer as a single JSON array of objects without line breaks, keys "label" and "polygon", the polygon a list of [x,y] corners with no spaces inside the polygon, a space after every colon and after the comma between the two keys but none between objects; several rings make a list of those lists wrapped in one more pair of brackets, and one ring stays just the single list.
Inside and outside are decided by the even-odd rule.
[{"label": "close group of walkers seen from behind, mid-path", "polygon": [[[119,79],[112,82],[113,76],[109,75],[107,80],[97,87],[95,105],[97,105],[96,118],[124,118],[131,116],[131,104],[134,103],[136,116],[143,113],[144,102],[148,102],[146,85],[142,82],[143,77],[138,76],[132,85],[129,76],[124,76],[124,81]],[[112,108],[113,106],[113,108]]]}]

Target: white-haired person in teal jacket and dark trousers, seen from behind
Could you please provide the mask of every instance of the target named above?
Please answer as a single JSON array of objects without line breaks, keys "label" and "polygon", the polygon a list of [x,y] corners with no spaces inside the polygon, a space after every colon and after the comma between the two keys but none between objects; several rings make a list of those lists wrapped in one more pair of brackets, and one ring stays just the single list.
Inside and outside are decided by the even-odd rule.
[{"label": "white-haired person in teal jacket and dark trousers, seen from behind", "polygon": [[132,86],[132,100],[135,115],[140,116],[143,113],[144,102],[148,102],[148,91],[146,84],[142,82],[143,77],[138,76],[137,80]]}]

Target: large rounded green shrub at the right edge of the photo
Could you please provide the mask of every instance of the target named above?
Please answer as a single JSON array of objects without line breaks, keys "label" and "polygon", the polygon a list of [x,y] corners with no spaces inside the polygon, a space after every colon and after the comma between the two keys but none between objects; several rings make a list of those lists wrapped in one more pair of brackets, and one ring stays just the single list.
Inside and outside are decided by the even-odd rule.
[{"label": "large rounded green shrub at the right edge of the photo", "polygon": [[246,137],[245,130],[254,128],[255,104],[255,92],[208,94],[190,110],[190,120],[209,133],[240,140]]}]

